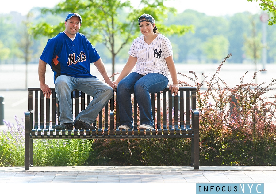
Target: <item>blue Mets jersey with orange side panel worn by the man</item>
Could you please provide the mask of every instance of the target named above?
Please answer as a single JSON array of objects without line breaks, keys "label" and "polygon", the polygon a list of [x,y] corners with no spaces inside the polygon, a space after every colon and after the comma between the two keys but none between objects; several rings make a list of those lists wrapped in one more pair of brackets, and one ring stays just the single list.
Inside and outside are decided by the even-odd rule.
[{"label": "blue Mets jersey with orange side panel worn by the man", "polygon": [[55,83],[59,75],[95,77],[90,73],[90,63],[98,61],[100,56],[85,35],[78,32],[72,41],[60,32],[48,40],[40,59],[51,65]]}]

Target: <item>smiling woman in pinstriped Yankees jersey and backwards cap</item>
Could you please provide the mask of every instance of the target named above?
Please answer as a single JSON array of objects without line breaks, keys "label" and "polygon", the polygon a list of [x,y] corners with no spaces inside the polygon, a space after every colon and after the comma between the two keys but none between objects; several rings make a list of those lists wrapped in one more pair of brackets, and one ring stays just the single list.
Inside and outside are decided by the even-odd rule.
[{"label": "smiling woman in pinstriped Yankees jersey and backwards cap", "polygon": [[[157,32],[154,18],[149,14],[139,17],[142,36],[134,39],[129,58],[118,79],[113,82],[117,88],[120,108],[119,129],[133,130],[131,94],[135,93],[140,110],[139,129],[153,129],[151,99],[149,93],[156,93],[168,85],[168,72],[173,84],[171,94],[178,93],[179,85],[173,61],[171,42]],[[130,73],[136,65],[134,72]]]}]

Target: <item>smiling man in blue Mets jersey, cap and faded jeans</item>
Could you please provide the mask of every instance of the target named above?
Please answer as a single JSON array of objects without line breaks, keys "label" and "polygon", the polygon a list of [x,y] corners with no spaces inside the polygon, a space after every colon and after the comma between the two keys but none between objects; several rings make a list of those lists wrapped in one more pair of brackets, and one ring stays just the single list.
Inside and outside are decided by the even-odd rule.
[{"label": "smiling man in blue Mets jersey, cap and faded jeans", "polygon": [[[78,13],[69,13],[65,19],[65,31],[48,40],[38,63],[40,88],[50,98],[51,89],[45,84],[46,64],[54,72],[56,94],[59,99],[60,125],[55,129],[72,130],[73,126],[81,129],[96,129],[91,126],[100,110],[113,96],[114,84],[109,79],[104,63],[96,49],[79,33],[82,17]],[[90,74],[90,63],[94,63],[105,82]],[[71,112],[71,91],[77,89],[93,100],[73,121]]]}]

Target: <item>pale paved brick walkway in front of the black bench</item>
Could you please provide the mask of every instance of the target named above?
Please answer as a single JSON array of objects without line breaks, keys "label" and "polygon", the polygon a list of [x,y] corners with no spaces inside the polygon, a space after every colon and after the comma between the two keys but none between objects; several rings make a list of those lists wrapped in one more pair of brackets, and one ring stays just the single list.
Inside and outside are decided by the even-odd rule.
[{"label": "pale paved brick walkway in front of the black bench", "polygon": [[0,167],[0,183],[276,183],[276,166]]}]

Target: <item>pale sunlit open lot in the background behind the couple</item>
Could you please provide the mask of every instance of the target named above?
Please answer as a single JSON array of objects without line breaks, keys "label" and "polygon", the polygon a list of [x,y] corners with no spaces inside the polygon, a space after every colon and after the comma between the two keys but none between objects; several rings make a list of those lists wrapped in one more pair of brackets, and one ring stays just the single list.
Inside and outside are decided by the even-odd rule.
[{"label": "pale sunlit open lot in the background behind the couple", "polygon": [[[121,72],[125,64],[116,64],[115,72]],[[106,70],[109,75],[112,72],[112,65],[105,64]],[[176,64],[177,72],[192,76],[189,71],[194,71],[199,81],[203,79],[202,73],[208,76],[208,80],[213,76],[219,64]],[[257,69],[263,69],[262,64],[257,65]],[[276,75],[276,65],[267,64],[265,66],[267,69],[266,73],[259,72],[257,74],[257,79],[253,81],[254,83],[265,82],[264,86],[268,85],[272,78]],[[247,73],[243,79],[243,83],[249,83],[252,81],[253,74],[256,70],[254,64],[231,64],[225,63],[220,71],[220,78],[223,79],[229,87],[234,87],[240,84],[240,78]],[[97,76],[99,79],[103,80],[100,73],[98,73],[97,68],[94,64],[90,66],[91,74]],[[115,76],[115,80],[118,75]],[[24,64],[0,64],[0,95],[4,95],[4,118],[7,121],[15,123],[14,116],[17,115],[18,118],[24,116],[24,112],[28,110],[28,92],[25,89],[25,65]],[[55,87],[53,83],[53,72],[49,65],[47,65],[46,70],[46,84],[50,87]],[[193,77],[193,76],[192,76]],[[181,76],[178,76],[178,79],[186,81],[190,84],[193,84],[190,80],[184,79]],[[171,80],[169,83],[172,83]],[[40,87],[38,79],[38,65],[29,64],[28,65],[28,79],[27,87]],[[201,89],[204,89],[203,88]],[[267,93],[267,96],[273,96],[276,94],[276,91],[271,91]],[[0,126],[0,129],[3,126]]]}]

